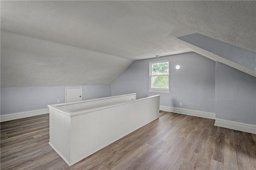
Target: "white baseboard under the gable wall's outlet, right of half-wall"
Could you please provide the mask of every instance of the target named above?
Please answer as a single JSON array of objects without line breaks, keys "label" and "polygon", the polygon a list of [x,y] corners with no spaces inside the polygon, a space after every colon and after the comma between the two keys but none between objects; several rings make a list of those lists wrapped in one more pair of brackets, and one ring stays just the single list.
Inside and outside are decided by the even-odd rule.
[{"label": "white baseboard under the gable wall's outlet, right of half-wall", "polygon": [[207,112],[207,111],[198,111],[198,110],[183,109],[179,107],[162,106],[162,105],[160,105],[160,110],[169,111],[172,113],[180,113],[184,115],[196,116],[196,117],[203,117],[208,119],[215,119],[215,113]]}]

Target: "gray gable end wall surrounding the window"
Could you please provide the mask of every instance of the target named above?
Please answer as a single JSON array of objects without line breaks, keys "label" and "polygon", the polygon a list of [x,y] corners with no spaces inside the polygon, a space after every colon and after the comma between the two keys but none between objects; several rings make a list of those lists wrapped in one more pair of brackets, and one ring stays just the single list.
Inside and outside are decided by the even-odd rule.
[{"label": "gray gable end wall surrounding the window", "polygon": [[[149,90],[149,62],[168,60],[170,94]],[[179,64],[180,69],[175,66]],[[137,98],[160,94],[160,105],[215,113],[215,62],[196,53],[134,61],[112,83],[112,96],[136,93]]]}]

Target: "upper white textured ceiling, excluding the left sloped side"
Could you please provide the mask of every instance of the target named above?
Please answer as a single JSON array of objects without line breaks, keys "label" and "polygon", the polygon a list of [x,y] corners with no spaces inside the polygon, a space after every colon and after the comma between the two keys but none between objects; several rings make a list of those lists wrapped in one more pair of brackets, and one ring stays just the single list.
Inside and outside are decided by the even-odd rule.
[{"label": "upper white textured ceiling, excluding the left sloped side", "polygon": [[255,51],[253,1],[1,1],[1,29],[129,59],[201,33]]}]

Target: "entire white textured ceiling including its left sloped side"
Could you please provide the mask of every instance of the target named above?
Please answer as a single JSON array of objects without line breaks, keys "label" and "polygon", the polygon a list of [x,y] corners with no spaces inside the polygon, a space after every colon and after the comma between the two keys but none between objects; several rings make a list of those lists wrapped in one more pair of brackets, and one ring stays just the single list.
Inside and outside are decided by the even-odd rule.
[{"label": "entire white textured ceiling including its left sloped side", "polygon": [[134,60],[191,51],[176,39],[191,33],[256,51],[255,1],[1,1],[0,5],[2,87],[111,84]]}]

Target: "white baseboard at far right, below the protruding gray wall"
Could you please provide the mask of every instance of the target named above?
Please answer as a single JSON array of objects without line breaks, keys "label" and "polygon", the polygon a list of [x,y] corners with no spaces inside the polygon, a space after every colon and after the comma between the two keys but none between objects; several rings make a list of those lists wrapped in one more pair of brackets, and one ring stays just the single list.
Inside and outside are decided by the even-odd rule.
[{"label": "white baseboard at far right, below the protruding gray wall", "polygon": [[214,126],[256,134],[256,125],[216,118]]}]

